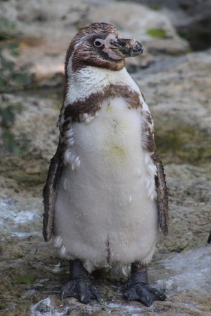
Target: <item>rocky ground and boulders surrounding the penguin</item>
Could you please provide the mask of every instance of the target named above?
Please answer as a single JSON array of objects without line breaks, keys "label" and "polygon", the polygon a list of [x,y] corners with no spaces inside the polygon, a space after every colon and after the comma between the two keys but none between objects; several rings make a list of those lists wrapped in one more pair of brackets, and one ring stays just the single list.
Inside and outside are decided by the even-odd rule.
[{"label": "rocky ground and boulders surrounding the penguin", "polygon": [[[164,13],[126,1],[58,5],[54,0],[50,8],[47,1],[0,3],[0,315],[211,315],[211,246],[206,242],[211,51],[191,52]],[[127,67],[153,113],[170,205],[170,234],[159,236],[149,270],[151,283],[168,300],[150,308],[126,302],[124,280],[111,280],[106,273],[94,275],[100,302],[60,302],[68,265],[41,233],[42,188],[58,139],[63,58],[78,28],[93,21],[115,23],[145,49]]]}]

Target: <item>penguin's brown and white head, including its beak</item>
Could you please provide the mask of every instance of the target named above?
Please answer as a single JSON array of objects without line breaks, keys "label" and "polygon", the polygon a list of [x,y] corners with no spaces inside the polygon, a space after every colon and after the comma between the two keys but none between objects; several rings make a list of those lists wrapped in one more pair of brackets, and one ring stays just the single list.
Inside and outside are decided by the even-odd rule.
[{"label": "penguin's brown and white head, including its beak", "polygon": [[131,39],[121,38],[114,25],[93,23],[83,27],[69,44],[65,58],[65,71],[93,66],[120,70],[125,58],[142,54],[142,45]]}]

